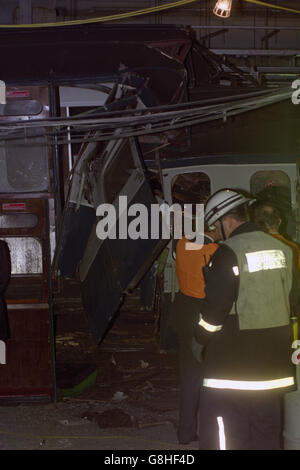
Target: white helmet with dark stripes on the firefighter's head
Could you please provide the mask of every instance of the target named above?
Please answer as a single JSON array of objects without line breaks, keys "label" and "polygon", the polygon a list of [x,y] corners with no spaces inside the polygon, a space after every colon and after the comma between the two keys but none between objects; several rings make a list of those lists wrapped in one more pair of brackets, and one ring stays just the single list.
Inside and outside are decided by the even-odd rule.
[{"label": "white helmet with dark stripes on the firefighter's head", "polygon": [[254,200],[232,189],[221,189],[208,199],[205,205],[204,221],[211,226],[235,207],[252,203]]}]

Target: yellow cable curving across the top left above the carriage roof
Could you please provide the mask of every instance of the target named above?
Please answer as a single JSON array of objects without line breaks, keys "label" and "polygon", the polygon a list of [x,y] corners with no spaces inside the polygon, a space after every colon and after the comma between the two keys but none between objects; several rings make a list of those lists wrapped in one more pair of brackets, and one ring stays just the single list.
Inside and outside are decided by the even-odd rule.
[{"label": "yellow cable curving across the top left above the carriage roof", "polygon": [[35,23],[35,24],[1,24],[0,28],[49,28],[56,26],[71,26],[89,23],[103,23],[104,21],[124,20],[135,16],[148,15],[150,13],[157,13],[158,11],[169,10],[170,8],[177,8],[189,3],[194,3],[198,0],[179,0],[177,2],[164,3],[155,7],[144,8],[142,10],[131,11],[129,13],[119,13],[116,15],[102,16],[100,18],[88,18],[86,20],[73,20],[73,21],[58,21],[57,23]]}]

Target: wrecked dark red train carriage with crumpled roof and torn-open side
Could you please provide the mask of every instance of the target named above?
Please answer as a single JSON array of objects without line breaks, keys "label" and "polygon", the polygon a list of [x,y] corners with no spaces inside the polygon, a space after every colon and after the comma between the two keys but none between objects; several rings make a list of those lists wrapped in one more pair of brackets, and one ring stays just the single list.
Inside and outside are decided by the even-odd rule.
[{"label": "wrecked dark red train carriage with crumpled roof and torn-open side", "polygon": [[[120,127],[98,129],[82,119],[128,113],[130,120],[132,112],[145,117],[150,109],[193,99],[234,101],[249,86],[255,91],[256,84],[234,69],[224,75],[215,56],[173,26],[2,30],[0,38],[7,91],[1,115],[1,235],[13,262],[7,293],[11,352],[0,396],[49,400],[55,393],[54,252],[54,272],[79,275],[91,332],[100,342],[124,293],[142,278],[165,241],[101,241],[95,234],[96,209],[102,202],[114,204],[119,195],[149,208],[156,200],[145,158],[152,158],[147,162],[152,174],[163,176],[166,195],[167,167],[160,168],[155,150],[165,146],[161,156],[171,161],[173,148],[178,162],[194,141],[189,123],[169,122],[156,134],[144,132],[145,124],[138,138],[127,126],[120,138]],[[18,61],[11,60],[14,51]]]}]

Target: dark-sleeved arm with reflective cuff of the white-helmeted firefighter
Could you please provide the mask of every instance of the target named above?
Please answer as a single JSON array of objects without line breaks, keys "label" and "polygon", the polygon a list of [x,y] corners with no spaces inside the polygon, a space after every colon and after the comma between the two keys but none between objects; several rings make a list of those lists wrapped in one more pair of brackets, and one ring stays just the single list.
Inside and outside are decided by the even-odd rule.
[{"label": "dark-sleeved arm with reflective cuff of the white-helmeted firefighter", "polygon": [[197,341],[202,344],[221,331],[236,300],[239,276],[235,275],[233,267],[237,264],[235,253],[228,246],[221,245],[204,268],[205,299],[199,302],[196,331]]}]

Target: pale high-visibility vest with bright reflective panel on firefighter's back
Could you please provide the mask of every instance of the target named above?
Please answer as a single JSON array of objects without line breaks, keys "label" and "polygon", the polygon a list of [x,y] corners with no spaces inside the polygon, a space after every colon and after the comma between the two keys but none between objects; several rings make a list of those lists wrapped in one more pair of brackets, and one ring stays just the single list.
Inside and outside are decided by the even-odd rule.
[{"label": "pale high-visibility vest with bright reflective panel on firefighter's back", "polygon": [[292,287],[292,252],[264,232],[242,233],[225,242],[236,254],[239,293],[231,314],[239,328],[260,329],[288,325]]}]

